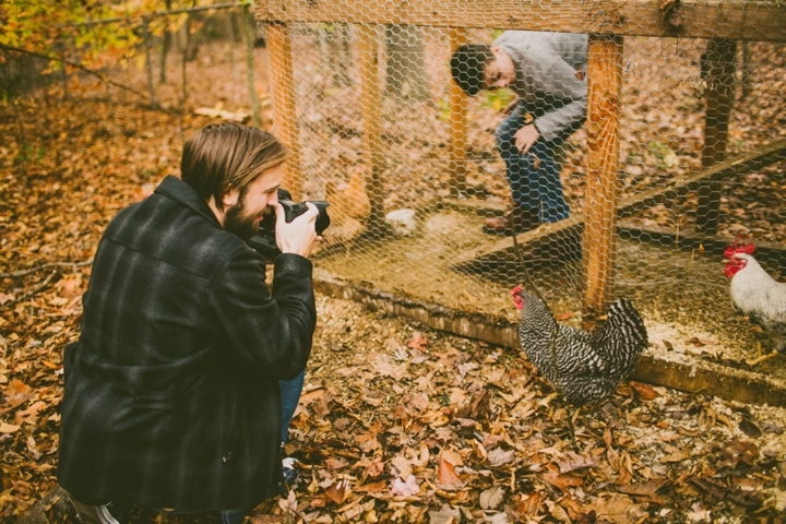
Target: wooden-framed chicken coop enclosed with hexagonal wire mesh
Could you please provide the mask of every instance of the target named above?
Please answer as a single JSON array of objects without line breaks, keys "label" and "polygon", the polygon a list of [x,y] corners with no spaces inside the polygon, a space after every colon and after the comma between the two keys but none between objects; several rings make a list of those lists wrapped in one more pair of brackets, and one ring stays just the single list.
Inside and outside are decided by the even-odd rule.
[{"label": "wooden-framed chicken coop enclosed with hexagonal wire mesh", "polygon": [[[331,204],[314,255],[323,291],[511,346],[515,285],[537,287],[558,320],[586,329],[624,297],[650,334],[635,377],[786,405],[786,356],[759,358],[776,335],[735,310],[724,272],[724,250],[739,241],[755,246],[765,285],[786,276],[783,3],[258,0],[255,9],[273,129],[291,150],[286,189]],[[511,32],[535,32],[524,47],[538,52],[543,35],[585,47],[567,80],[538,58],[508,87],[486,88],[495,79],[481,75],[469,96],[452,68],[472,75],[487,62],[461,63],[458,51],[510,55]],[[584,86],[576,126],[555,138],[534,110],[551,157],[502,154],[510,107],[563,108],[582,98],[560,91],[569,81]],[[513,188],[515,162],[544,177],[556,166],[548,191],[563,212],[549,215],[544,193],[529,207],[538,218],[522,230],[511,222],[508,235],[489,221],[509,219],[527,183],[540,191],[529,179]]]}]

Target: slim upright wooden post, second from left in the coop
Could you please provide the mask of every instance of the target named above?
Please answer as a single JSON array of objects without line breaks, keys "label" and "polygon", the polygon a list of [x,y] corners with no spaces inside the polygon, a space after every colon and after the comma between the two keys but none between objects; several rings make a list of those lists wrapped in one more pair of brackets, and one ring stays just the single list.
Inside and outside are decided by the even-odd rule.
[{"label": "slim upright wooden post, second from left in the coop", "polygon": [[360,67],[360,97],[364,112],[364,162],[366,193],[371,203],[368,229],[385,230],[382,188],[382,144],[380,141],[380,104],[382,90],[377,58],[377,25],[358,26],[358,66]]}]

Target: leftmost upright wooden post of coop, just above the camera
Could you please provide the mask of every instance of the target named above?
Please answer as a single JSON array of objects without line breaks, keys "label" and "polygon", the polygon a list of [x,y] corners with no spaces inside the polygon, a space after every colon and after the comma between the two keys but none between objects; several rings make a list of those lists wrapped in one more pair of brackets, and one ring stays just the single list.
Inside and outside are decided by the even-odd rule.
[{"label": "leftmost upright wooden post of coop, just above the camera", "polygon": [[298,150],[295,114],[295,80],[293,74],[291,36],[286,24],[270,23],[266,32],[267,71],[270,74],[275,135],[290,150],[284,176],[284,189],[299,202],[302,198],[300,151]]}]

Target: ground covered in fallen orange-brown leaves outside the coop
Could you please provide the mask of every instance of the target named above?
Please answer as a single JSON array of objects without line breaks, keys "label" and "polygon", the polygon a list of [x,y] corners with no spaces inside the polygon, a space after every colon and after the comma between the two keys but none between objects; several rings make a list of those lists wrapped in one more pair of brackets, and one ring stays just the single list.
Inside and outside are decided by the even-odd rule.
[{"label": "ground covered in fallen orange-brown leaves outside the coop", "polygon": [[[203,78],[221,78],[203,62]],[[210,88],[195,87],[194,108],[215,106]],[[242,107],[242,90],[225,93],[226,107]],[[181,120],[176,104],[152,111],[100,92],[72,95],[61,102],[53,88],[0,105],[5,522],[56,485],[62,348],[78,336],[100,233],[177,172],[183,133],[211,121],[190,111]],[[437,146],[422,145],[416,131],[404,130],[397,147],[431,154]],[[782,172],[757,187],[781,191]],[[758,202],[740,181],[745,198],[728,195],[730,207]],[[772,223],[773,212],[783,213],[746,216],[753,211]],[[322,296],[319,314],[286,448],[300,460],[301,479],[289,498],[260,507],[255,522],[283,521],[285,510],[290,522],[784,522],[783,409],[624,384],[608,403],[579,412],[572,450],[569,412],[517,352]],[[134,522],[148,520],[134,513]]]}]

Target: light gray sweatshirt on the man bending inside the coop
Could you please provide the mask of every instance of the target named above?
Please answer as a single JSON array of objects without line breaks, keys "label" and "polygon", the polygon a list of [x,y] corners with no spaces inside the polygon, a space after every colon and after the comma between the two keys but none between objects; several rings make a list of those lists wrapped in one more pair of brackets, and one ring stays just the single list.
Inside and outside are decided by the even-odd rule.
[{"label": "light gray sweatshirt on the man bending inside the coop", "polygon": [[[493,46],[513,59],[516,83],[510,88],[536,114],[540,135],[555,140],[581,127],[586,118],[587,81],[576,73],[586,73],[587,35],[507,31]],[[545,112],[544,112],[545,111]]]}]

